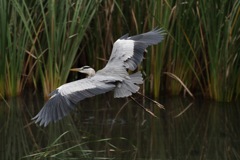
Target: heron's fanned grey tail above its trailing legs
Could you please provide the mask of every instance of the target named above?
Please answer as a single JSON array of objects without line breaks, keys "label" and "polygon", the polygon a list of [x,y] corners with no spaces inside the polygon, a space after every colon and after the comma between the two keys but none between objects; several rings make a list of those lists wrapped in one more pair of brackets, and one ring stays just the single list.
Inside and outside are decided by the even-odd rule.
[{"label": "heron's fanned grey tail above its trailing legs", "polygon": [[143,78],[141,72],[136,72],[131,74],[130,79],[125,79],[121,83],[117,85],[114,90],[115,98],[123,98],[132,95],[132,93],[136,93],[139,90],[138,84],[143,83]]}]

